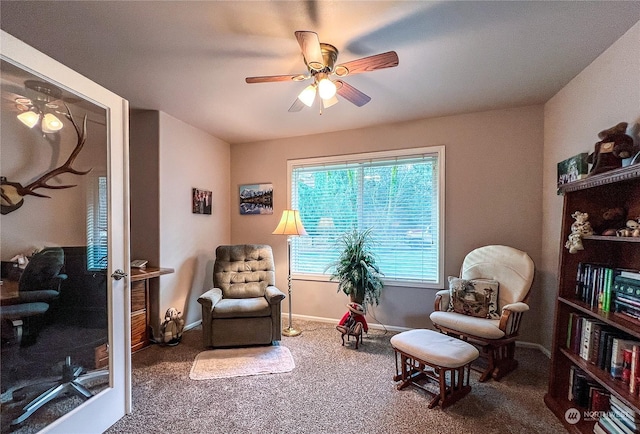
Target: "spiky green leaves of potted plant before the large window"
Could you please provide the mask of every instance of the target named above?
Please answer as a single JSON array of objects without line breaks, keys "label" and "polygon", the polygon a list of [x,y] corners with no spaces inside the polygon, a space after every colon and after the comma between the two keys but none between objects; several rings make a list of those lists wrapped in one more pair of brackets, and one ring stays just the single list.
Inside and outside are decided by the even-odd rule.
[{"label": "spiky green leaves of potted plant before the large window", "polygon": [[343,250],[338,259],[327,268],[333,269],[330,280],[337,280],[338,292],[349,295],[365,311],[368,306],[380,304],[384,275],[376,265],[372,252],[371,228],[346,232],[340,242]]}]

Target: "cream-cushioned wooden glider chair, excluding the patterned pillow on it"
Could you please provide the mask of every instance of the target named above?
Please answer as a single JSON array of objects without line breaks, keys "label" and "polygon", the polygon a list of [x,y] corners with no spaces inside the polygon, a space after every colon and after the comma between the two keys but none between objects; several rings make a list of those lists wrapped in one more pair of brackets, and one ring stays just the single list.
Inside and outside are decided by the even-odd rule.
[{"label": "cream-cushioned wooden glider chair, excluding the patterned pillow on it", "polygon": [[436,294],[435,311],[430,315],[433,325],[442,333],[482,348],[488,366],[480,381],[489,377],[499,380],[518,366],[514,358],[516,339],[522,314],[529,310],[527,299],[534,272],[534,263],[525,252],[507,246],[480,247],[464,258],[460,278],[499,283],[495,315],[478,318],[456,313],[449,304],[449,290]]}]

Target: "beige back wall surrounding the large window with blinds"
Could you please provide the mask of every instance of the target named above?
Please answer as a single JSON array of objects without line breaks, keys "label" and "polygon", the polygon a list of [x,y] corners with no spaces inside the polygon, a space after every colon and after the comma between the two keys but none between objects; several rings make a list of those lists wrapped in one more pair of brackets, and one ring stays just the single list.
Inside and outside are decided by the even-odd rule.
[{"label": "beige back wall surrounding the large window with blinds", "polygon": [[[277,283],[286,291],[286,238],[271,232],[287,207],[287,159],[445,145],[445,273],[457,275],[464,255],[485,244],[525,250],[538,263],[542,140],[543,108],[531,106],[233,145],[231,241],[272,245]],[[238,186],[259,182],[273,183],[274,214],[240,215]],[[525,318],[524,340],[528,341],[537,341],[536,286],[533,314]],[[296,280],[293,292],[295,315],[337,321],[346,311],[346,296],[336,293],[336,283]],[[386,325],[431,327],[435,292],[388,287],[373,313]],[[370,321],[375,322],[371,315]]]}]

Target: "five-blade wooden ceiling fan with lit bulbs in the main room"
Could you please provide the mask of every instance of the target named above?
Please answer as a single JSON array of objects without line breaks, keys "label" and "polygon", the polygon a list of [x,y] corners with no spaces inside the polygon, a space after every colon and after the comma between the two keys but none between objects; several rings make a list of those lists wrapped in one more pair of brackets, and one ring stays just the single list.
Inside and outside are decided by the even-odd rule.
[{"label": "five-blade wooden ceiling fan with lit bulbs in the main room", "polygon": [[[362,107],[371,101],[371,97],[340,79],[347,75],[398,66],[398,54],[395,51],[388,51],[336,65],[338,49],[331,44],[320,42],[317,33],[297,31],[295,35],[302,50],[304,63],[309,71],[308,74],[267,75],[247,77],[245,79],[247,83],[297,82],[313,79],[313,83],[300,92],[298,98],[289,108],[290,112],[300,111],[305,105],[311,107],[316,99],[316,94],[321,99],[321,108],[326,109],[336,104],[338,102],[336,94],[358,107]],[[338,79],[332,80],[333,77],[338,77]]]}]

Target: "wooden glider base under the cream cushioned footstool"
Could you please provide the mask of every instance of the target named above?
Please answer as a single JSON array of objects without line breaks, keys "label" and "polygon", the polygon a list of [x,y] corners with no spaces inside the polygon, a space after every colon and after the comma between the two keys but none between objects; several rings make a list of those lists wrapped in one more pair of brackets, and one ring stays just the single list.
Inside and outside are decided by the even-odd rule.
[{"label": "wooden glider base under the cream cushioned footstool", "polygon": [[[397,389],[401,390],[412,385],[424,390],[429,395],[433,395],[428,404],[429,408],[440,405],[440,408],[444,409],[464,398],[471,391],[471,386],[469,385],[470,363],[456,368],[445,368],[419,360],[397,348],[394,348],[394,350],[396,375],[393,380],[400,381],[400,384],[396,386]],[[433,393],[420,384],[420,381],[423,380],[437,383],[439,393]]]}]

